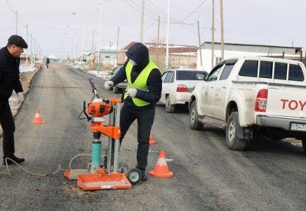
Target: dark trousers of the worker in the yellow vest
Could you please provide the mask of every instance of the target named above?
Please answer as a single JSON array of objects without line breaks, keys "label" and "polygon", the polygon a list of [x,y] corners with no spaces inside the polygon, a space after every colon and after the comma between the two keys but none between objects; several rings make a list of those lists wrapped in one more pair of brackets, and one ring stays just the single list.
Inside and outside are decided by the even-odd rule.
[{"label": "dark trousers of the worker in the yellow vest", "polygon": [[123,106],[120,114],[121,138],[120,145],[126,132],[131,124],[137,120],[138,122],[138,149],[137,149],[137,166],[139,170],[145,171],[147,167],[147,155],[149,154],[149,136],[154,122],[155,107],[149,110],[135,111]]}]

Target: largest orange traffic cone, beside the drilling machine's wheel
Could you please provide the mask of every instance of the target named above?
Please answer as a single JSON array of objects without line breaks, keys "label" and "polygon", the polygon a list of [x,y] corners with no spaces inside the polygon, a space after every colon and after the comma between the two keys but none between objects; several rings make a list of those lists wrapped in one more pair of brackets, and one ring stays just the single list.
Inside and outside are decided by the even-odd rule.
[{"label": "largest orange traffic cone, beside the drilling machine's wheel", "polygon": [[161,151],[159,154],[159,160],[157,160],[157,165],[155,165],[155,169],[149,172],[149,175],[152,177],[173,177],[173,172],[169,172],[167,160],[165,156],[165,152]]}]

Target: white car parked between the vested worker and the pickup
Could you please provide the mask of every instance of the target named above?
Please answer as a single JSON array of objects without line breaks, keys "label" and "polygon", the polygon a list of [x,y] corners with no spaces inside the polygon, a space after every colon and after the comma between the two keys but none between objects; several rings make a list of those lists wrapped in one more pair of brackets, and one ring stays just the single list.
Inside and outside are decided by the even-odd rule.
[{"label": "white car parked between the vested worker and the pickup", "polygon": [[200,82],[197,74],[203,70],[178,69],[168,70],[161,76],[163,89],[161,91],[160,102],[166,104],[166,111],[173,113],[175,106],[182,104],[188,105],[194,87]]}]

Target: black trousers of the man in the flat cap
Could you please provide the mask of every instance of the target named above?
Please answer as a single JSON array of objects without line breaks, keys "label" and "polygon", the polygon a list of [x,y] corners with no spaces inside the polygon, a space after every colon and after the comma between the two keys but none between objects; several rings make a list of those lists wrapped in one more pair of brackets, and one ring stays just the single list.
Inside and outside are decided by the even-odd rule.
[{"label": "black trousers of the man in the flat cap", "polygon": [[8,101],[0,106],[0,124],[3,130],[4,158],[11,157],[15,153],[14,132],[15,122]]}]

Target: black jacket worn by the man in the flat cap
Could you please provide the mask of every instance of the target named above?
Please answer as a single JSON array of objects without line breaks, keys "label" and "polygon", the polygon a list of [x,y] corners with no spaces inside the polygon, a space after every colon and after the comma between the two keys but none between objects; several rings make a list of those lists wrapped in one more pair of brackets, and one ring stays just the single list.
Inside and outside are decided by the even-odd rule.
[{"label": "black jacket worn by the man in the flat cap", "polygon": [[0,107],[4,101],[8,101],[13,90],[22,92],[19,77],[20,58],[14,58],[8,52],[7,47],[0,49]]}]

